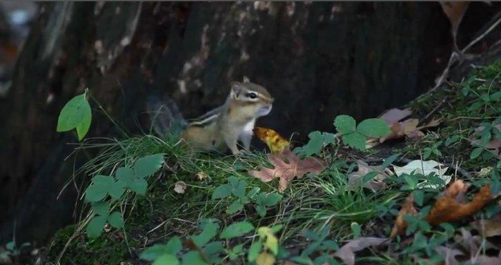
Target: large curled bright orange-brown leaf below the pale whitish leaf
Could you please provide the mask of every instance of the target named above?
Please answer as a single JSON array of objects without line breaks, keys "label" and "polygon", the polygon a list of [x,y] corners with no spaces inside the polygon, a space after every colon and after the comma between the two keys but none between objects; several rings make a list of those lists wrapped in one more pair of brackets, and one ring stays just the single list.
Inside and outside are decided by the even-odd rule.
[{"label": "large curled bright orange-brown leaf below the pale whitish leaf", "polygon": [[481,210],[487,203],[493,199],[491,195],[491,186],[487,184],[480,188],[471,202],[463,204],[458,202],[457,198],[464,196],[468,186],[462,180],[456,180],[442,193],[437,199],[430,213],[424,219],[432,225],[442,224],[444,222],[456,221]]}]

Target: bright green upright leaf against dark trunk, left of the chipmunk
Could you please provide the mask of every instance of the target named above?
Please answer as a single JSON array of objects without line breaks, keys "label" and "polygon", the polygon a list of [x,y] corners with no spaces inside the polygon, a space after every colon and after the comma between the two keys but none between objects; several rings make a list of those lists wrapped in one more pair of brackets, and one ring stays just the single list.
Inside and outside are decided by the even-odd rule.
[{"label": "bright green upright leaf against dark trunk, left of the chipmunk", "polygon": [[86,99],[86,93],[73,97],[63,107],[57,119],[57,131],[66,132],[77,129],[78,139],[87,134],[92,120],[92,111]]}]

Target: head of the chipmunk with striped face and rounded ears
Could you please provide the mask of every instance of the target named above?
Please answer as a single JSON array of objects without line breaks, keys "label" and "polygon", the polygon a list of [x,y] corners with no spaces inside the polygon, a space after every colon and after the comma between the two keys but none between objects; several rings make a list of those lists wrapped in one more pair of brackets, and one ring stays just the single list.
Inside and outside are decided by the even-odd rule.
[{"label": "head of the chipmunk with striped face and rounded ears", "polygon": [[253,117],[268,115],[275,100],[266,88],[250,83],[246,77],[243,82],[231,84],[230,99],[234,106],[241,107]]}]

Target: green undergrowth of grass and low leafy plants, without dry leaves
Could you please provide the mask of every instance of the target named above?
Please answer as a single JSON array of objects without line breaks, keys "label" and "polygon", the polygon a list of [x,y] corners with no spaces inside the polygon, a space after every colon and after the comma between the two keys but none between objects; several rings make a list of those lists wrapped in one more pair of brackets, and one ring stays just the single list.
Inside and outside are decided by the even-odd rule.
[{"label": "green undergrowth of grass and low leafy plants, without dry leaves", "polygon": [[[442,119],[442,124],[417,141],[406,141],[404,148],[395,149],[393,153],[410,159],[435,159],[453,164],[468,172],[468,175],[450,173],[454,178],[471,181],[474,187],[486,183],[495,186],[499,182],[499,154],[487,144],[500,138],[496,127],[501,123],[500,73],[501,61],[498,61],[473,72],[458,84],[451,83],[415,99],[409,104],[415,115]],[[296,264],[339,264],[340,260],[346,261],[335,254],[342,242],[388,237],[403,199],[412,193],[421,212],[407,218],[411,224],[408,233],[384,243],[389,244],[391,251],[366,249],[357,256],[357,262],[436,264],[443,261],[445,257],[437,247],[452,249],[457,246],[455,236],[464,235],[463,229],[472,230],[465,221],[440,226],[430,226],[424,221],[426,210],[444,189],[443,180],[438,179],[438,187],[419,188],[418,181],[433,179],[433,176],[411,174],[389,177],[386,188],[380,190],[353,188],[348,183],[348,175],[355,172],[357,166],[353,156],[346,155],[344,145],[364,150],[363,143],[366,137],[373,137],[374,130],[360,126],[364,121],[355,127],[355,121],[346,115],[336,119],[336,123],[341,135],[314,132],[310,142],[297,149],[300,155],[314,155],[328,166],[320,174],[295,179],[283,193],[277,190],[276,181],[264,182],[248,174],[248,170],[269,165],[266,153],[259,151],[239,157],[193,153],[176,137],[161,139],[153,135],[87,139],[77,149],[97,148],[100,153],[79,168],[75,176],[104,175],[117,183],[121,181],[119,168],[130,172],[139,170],[138,161],[155,154],[161,154],[162,162],[145,177],[144,193],[129,187],[120,190],[117,196],[106,191],[105,196],[110,196],[104,198],[108,199],[97,196],[92,200],[91,197],[90,203],[84,204],[81,210],[79,222],[54,236],[46,260],[48,264],[58,261],[60,264],[144,264],[146,261],[179,264],[179,259],[182,264],[261,265],[278,260]],[[77,124],[70,125],[66,127],[78,128]],[[339,126],[343,125],[346,126],[340,131]],[[478,129],[479,126],[484,129]],[[384,130],[384,126],[373,128]],[[366,157],[380,155],[377,148],[364,152],[362,155]],[[366,181],[374,177],[369,176]],[[92,185],[98,184],[99,181],[92,180]],[[84,185],[88,184],[84,182]],[[82,190],[87,188],[83,186]],[[468,196],[471,197],[471,193]],[[103,203],[106,213],[101,207]],[[487,219],[500,210],[493,202],[473,219]],[[119,213],[123,222],[106,224],[113,223],[106,222],[112,211]],[[101,215],[104,227],[98,227],[97,236],[89,237],[84,230],[92,219]],[[479,251],[487,255],[491,248],[487,247],[487,237],[482,240]]]}]

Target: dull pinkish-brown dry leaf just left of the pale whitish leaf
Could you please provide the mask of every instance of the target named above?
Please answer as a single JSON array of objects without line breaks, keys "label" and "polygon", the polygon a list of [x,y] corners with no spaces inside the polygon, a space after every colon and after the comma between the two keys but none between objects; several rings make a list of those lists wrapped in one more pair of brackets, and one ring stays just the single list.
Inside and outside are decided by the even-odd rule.
[{"label": "dull pinkish-brown dry leaf just left of the pale whitish leaf", "polygon": [[371,190],[382,190],[386,188],[386,183],[383,182],[386,177],[388,177],[391,172],[389,170],[382,170],[380,166],[369,166],[365,161],[357,160],[358,170],[356,172],[350,173],[348,175],[348,186],[350,189],[357,188],[360,186],[360,181],[364,175],[376,172],[377,175],[371,180],[364,184],[364,188],[370,188]]}]

